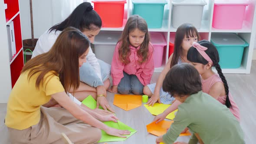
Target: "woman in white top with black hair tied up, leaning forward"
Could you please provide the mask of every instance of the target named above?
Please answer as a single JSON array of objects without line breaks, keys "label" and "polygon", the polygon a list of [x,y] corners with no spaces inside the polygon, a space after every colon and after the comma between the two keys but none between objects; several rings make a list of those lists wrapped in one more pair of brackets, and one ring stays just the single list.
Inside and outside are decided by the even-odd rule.
[{"label": "woman in white top with black hair tied up, leaning forward", "polygon": [[[91,3],[84,2],[79,4],[64,21],[47,29],[39,37],[32,58],[48,52],[53,47],[59,34],[69,26],[79,29],[88,37],[90,43],[93,43],[95,36],[98,35],[101,29],[102,20],[98,13],[93,10]],[[75,91],[69,91],[69,97],[77,104],[84,106],[80,101],[83,101],[88,95],[92,95],[97,101],[97,109],[95,111],[105,114],[107,111],[104,112],[98,109],[99,106],[102,106],[105,110],[108,109],[109,111],[115,112],[108,105],[106,99],[106,90],[110,85],[108,77],[110,76],[111,66],[97,59],[90,46],[86,61],[79,69],[79,88],[75,89]],[[58,106],[58,103],[56,101],[50,101],[46,106]]]}]

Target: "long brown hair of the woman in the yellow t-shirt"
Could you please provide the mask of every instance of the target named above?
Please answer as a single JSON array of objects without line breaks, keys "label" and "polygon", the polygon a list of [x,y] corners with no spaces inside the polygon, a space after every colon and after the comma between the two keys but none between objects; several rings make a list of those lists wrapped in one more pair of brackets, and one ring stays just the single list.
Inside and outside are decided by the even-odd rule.
[{"label": "long brown hair of the woman in the yellow t-shirt", "polygon": [[[36,88],[39,89],[44,79],[59,76],[65,92],[79,87],[79,57],[89,48],[89,39],[79,29],[68,27],[60,33],[49,52],[43,53],[28,61],[21,73],[29,71],[28,80],[39,73]],[[45,75],[53,72],[52,75]],[[47,82],[46,82],[47,83]]]}]

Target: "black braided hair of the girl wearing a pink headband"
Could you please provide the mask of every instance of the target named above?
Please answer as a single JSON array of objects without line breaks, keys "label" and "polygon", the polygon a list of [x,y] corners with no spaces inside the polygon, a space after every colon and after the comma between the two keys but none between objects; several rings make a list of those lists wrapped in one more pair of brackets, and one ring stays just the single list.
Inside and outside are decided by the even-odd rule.
[{"label": "black braided hair of the girl wearing a pink headband", "polygon": [[[217,72],[220,76],[220,79],[222,80],[222,82],[224,84],[225,93],[226,93],[225,105],[226,105],[227,108],[232,107],[232,105],[230,103],[230,99],[229,99],[229,87],[227,85],[226,78],[223,75],[222,70],[221,70],[220,65],[219,65],[220,58],[219,58],[219,53],[218,53],[216,47],[207,40],[201,40],[198,43],[201,46],[205,46],[205,47],[208,48],[205,52],[210,57],[210,59],[213,61],[213,66],[217,70]],[[188,50],[187,60],[189,60],[190,62],[201,63],[203,65],[206,65],[208,63],[208,61],[206,59],[204,59],[203,56],[201,56],[200,53],[197,51],[197,49],[195,49],[194,47],[190,47],[190,49]]]}]

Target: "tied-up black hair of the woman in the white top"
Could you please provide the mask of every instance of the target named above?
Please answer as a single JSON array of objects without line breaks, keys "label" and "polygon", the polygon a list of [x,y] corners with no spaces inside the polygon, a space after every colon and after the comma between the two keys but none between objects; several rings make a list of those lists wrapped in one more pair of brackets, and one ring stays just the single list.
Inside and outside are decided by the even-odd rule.
[{"label": "tied-up black hair of the woman in the white top", "polygon": [[84,2],[79,4],[79,6],[77,6],[75,10],[73,10],[69,17],[66,18],[66,20],[52,26],[49,29],[49,32],[53,30],[55,30],[55,32],[57,30],[63,31],[69,26],[75,27],[82,32],[85,29],[100,29],[102,26],[102,20],[98,13],[93,10],[91,3]]}]

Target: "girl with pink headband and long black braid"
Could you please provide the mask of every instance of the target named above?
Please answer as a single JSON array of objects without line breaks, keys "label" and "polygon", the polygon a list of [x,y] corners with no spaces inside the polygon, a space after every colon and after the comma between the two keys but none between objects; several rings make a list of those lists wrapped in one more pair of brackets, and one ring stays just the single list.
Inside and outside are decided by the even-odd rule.
[{"label": "girl with pink headband and long black braid", "polygon": [[[239,108],[233,100],[226,78],[221,72],[219,53],[215,46],[207,40],[194,43],[187,52],[187,59],[201,75],[203,92],[226,105],[240,121]],[[212,66],[216,68],[218,74],[213,72]]]}]

